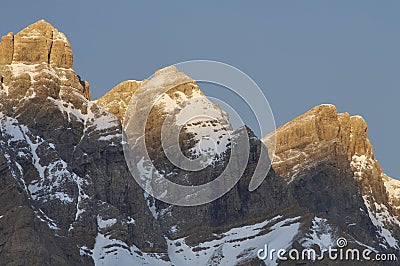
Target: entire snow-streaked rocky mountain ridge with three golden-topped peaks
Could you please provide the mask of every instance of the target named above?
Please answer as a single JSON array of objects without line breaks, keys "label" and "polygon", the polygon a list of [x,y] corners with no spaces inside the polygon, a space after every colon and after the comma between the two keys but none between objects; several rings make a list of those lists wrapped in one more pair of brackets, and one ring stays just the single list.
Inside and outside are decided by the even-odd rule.
[{"label": "entire snow-streaked rocky mountain ridge with three golden-topped peaks", "polygon": [[[0,265],[337,265],[327,257],[293,262],[257,253],[267,245],[321,254],[338,248],[338,238],[348,248],[400,256],[400,181],[384,174],[359,116],[320,105],[280,127],[272,169],[250,192],[272,135],[261,141],[247,127],[234,130],[175,67],[92,101],[89,83],[73,70],[70,43],[41,20],[2,37],[0,77]],[[245,169],[221,198],[170,205],[132,177],[123,150],[123,127],[136,121],[129,104],[132,97],[147,103],[160,87],[171,89],[148,115],[142,137],[149,158],[138,168],[145,174],[154,165],[175,183],[203,184],[224,171],[232,140],[246,134]],[[179,121],[175,111],[188,101],[214,119]],[[168,160],[161,132],[171,115],[182,153],[207,155],[201,171]]]}]

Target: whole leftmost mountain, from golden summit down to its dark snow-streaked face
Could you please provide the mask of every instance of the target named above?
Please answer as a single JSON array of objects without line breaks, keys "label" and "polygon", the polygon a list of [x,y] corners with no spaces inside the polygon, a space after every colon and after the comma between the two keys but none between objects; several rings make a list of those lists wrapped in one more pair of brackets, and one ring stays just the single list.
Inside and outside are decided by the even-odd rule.
[{"label": "whole leftmost mountain, from golden summit down to its dark snow-streaked face", "polygon": [[[13,59],[0,65],[1,195],[7,202],[0,205],[1,264],[92,264],[92,253],[83,254],[100,232],[130,244],[135,235],[142,250],[146,241],[165,249],[126,168],[120,122],[89,101],[88,83],[70,68],[69,43],[60,36],[47,22],[34,23],[15,35]],[[59,41],[65,49],[56,48]],[[116,233],[103,226],[110,216],[118,217]]]}]

